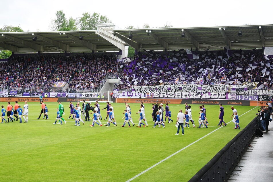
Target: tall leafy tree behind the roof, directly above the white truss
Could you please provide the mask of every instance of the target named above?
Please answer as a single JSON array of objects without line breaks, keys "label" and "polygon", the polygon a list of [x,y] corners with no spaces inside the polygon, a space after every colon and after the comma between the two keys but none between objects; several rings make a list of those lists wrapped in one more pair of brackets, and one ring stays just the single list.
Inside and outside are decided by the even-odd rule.
[{"label": "tall leafy tree behind the roof, directly above the white truss", "polygon": [[82,13],[82,17],[79,18],[79,24],[81,30],[96,30],[96,24],[111,23],[106,16],[100,16],[100,13],[94,12],[92,15],[85,12]]}]

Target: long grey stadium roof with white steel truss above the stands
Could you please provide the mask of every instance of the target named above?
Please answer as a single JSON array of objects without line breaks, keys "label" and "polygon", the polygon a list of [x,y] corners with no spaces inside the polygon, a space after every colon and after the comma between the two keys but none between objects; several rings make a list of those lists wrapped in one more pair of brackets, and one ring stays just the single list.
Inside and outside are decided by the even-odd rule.
[{"label": "long grey stadium roof with white steel truss above the stands", "polygon": [[138,51],[273,47],[273,25],[116,30],[114,24],[97,24],[97,30],[0,34],[0,50],[15,53],[120,51],[125,45]]}]

